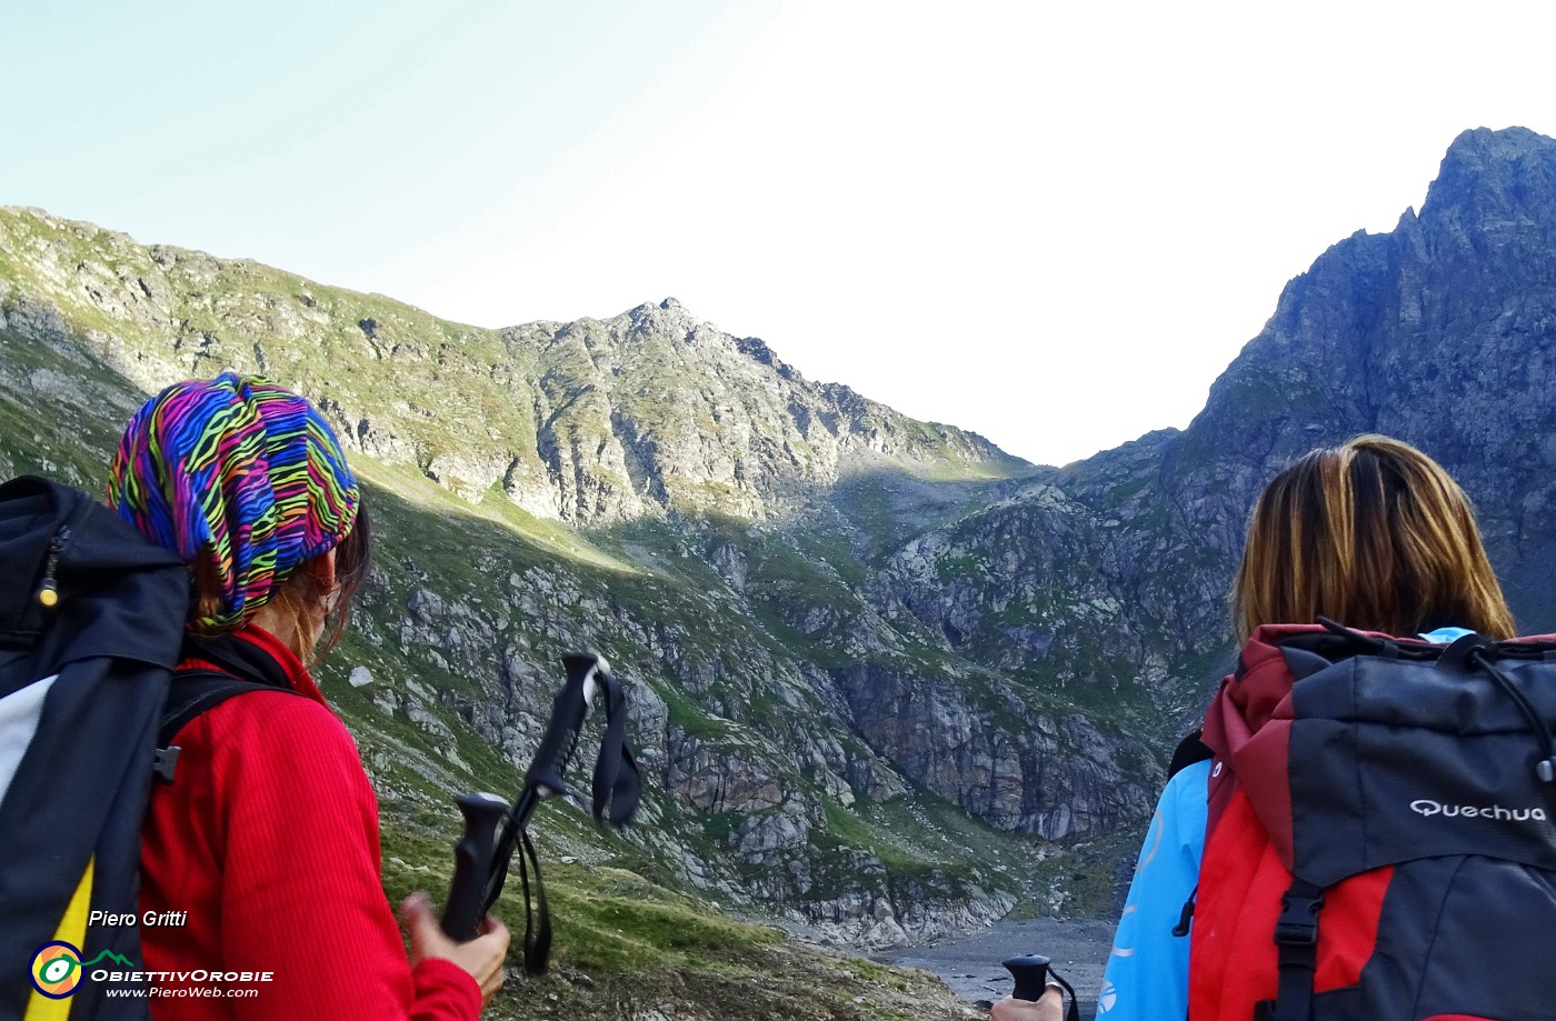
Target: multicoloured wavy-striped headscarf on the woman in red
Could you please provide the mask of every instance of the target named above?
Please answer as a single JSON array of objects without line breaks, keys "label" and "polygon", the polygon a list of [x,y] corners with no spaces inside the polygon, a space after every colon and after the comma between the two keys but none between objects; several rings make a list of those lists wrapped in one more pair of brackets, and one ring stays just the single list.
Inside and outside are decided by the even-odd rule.
[{"label": "multicoloured wavy-striped headscarf on the woman in red", "polygon": [[361,493],[335,433],[302,397],[224,374],[176,383],[135,412],[114,458],[109,506],[191,567],[213,554],[221,609],[241,627],[299,563],[352,531]]}]

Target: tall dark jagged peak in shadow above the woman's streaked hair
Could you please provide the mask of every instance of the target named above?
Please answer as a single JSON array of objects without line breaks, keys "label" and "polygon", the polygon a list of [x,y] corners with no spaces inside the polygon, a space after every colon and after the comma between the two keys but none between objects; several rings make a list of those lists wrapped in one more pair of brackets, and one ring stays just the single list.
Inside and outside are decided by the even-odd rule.
[{"label": "tall dark jagged peak in shadow above the woman's streaked hair", "polygon": [[1273,414],[1234,433],[1267,461],[1358,430],[1418,444],[1477,501],[1525,626],[1548,627],[1553,216],[1551,140],[1463,134],[1419,216],[1407,210],[1390,235],[1341,241],[1287,288],[1186,445],[1225,465],[1204,453],[1209,437],[1276,384]]}]

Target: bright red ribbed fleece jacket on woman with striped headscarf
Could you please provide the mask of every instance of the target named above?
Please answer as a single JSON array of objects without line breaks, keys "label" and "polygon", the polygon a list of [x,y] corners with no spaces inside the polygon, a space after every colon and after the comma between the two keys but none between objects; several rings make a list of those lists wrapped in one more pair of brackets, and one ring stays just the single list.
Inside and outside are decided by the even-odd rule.
[{"label": "bright red ribbed fleece jacket on woman with striped headscarf", "polygon": [[[252,691],[177,735],[176,780],[143,828],[145,970],[162,974],[156,1021],[468,1021],[476,981],[447,960],[412,971],[384,896],[378,800],[356,744],[297,657],[257,627],[293,688]],[[170,995],[177,973],[271,973],[219,982],[252,998]],[[196,991],[209,991],[201,988]]]}]

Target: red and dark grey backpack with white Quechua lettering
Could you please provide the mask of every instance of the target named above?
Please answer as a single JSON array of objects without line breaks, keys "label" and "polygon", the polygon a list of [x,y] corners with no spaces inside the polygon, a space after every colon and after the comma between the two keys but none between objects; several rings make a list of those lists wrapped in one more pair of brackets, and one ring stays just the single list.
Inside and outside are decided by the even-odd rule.
[{"label": "red and dark grey backpack with white Quechua lettering", "polygon": [[1260,627],[1206,718],[1190,1021],[1556,1018],[1556,638]]}]

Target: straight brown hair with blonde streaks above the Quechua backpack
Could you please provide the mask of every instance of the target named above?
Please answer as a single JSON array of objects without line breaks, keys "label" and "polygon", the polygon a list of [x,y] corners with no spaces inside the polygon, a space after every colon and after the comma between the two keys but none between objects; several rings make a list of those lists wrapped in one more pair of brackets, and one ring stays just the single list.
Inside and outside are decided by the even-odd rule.
[{"label": "straight brown hair with blonde streaks above the Quechua backpack", "polygon": [[1232,585],[1232,624],[1312,624],[1414,635],[1469,627],[1511,638],[1469,496],[1388,436],[1357,436],[1282,470],[1259,496]]}]

